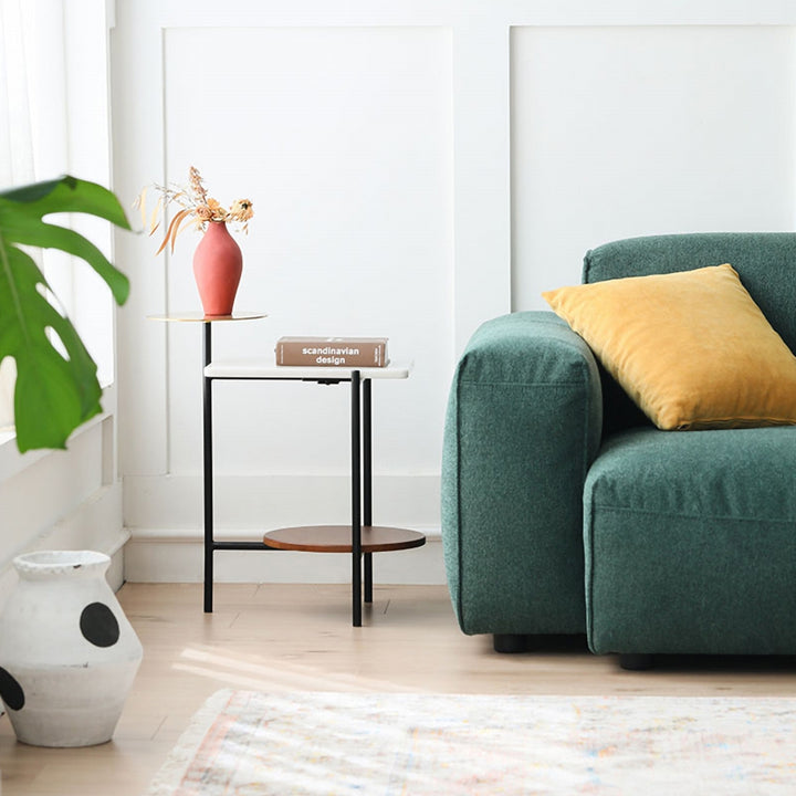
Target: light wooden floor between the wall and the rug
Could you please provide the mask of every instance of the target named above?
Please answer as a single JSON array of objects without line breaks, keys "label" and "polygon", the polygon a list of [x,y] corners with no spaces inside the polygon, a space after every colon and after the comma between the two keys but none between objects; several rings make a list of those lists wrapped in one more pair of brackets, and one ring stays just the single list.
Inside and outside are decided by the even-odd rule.
[{"label": "light wooden floor between the wall and the rug", "polygon": [[346,586],[218,585],[212,615],[201,610],[199,585],[127,584],[118,597],[145,657],[114,740],[82,750],[25,746],[3,716],[2,796],[139,796],[191,714],[221,688],[796,694],[795,659],[669,659],[625,672],[577,638],[499,656],[489,637],[459,631],[442,586],[377,586],[362,628],[350,627]]}]

